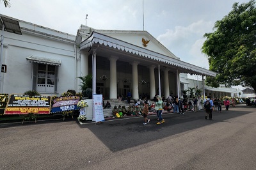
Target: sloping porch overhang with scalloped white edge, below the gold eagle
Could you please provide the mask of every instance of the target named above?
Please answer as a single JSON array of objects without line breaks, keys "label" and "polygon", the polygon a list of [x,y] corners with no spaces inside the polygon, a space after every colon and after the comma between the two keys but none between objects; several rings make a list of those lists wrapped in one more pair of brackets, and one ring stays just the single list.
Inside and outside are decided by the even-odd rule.
[{"label": "sloping porch overhang with scalloped white edge, below the gold eagle", "polygon": [[93,52],[90,49],[97,48],[97,56],[110,57],[117,56],[120,60],[132,63],[133,61],[140,62],[140,65],[157,67],[159,64],[161,69],[167,68],[170,72],[190,73],[195,75],[208,75],[216,76],[215,72],[210,70],[191,65],[189,63],[180,61],[179,59],[170,58],[153,52],[147,49],[143,49],[130,43],[122,42],[115,38],[111,38],[106,35],[93,32],[92,35],[84,42],[80,44],[80,50],[87,50]]}]

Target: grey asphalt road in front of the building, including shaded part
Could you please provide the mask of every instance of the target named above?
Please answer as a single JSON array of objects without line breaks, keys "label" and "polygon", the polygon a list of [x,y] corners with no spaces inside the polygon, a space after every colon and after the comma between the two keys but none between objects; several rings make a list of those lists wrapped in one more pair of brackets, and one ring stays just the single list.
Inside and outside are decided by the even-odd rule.
[{"label": "grey asphalt road in front of the building, including shaded part", "polygon": [[256,107],[204,116],[0,124],[0,169],[256,169]]}]

